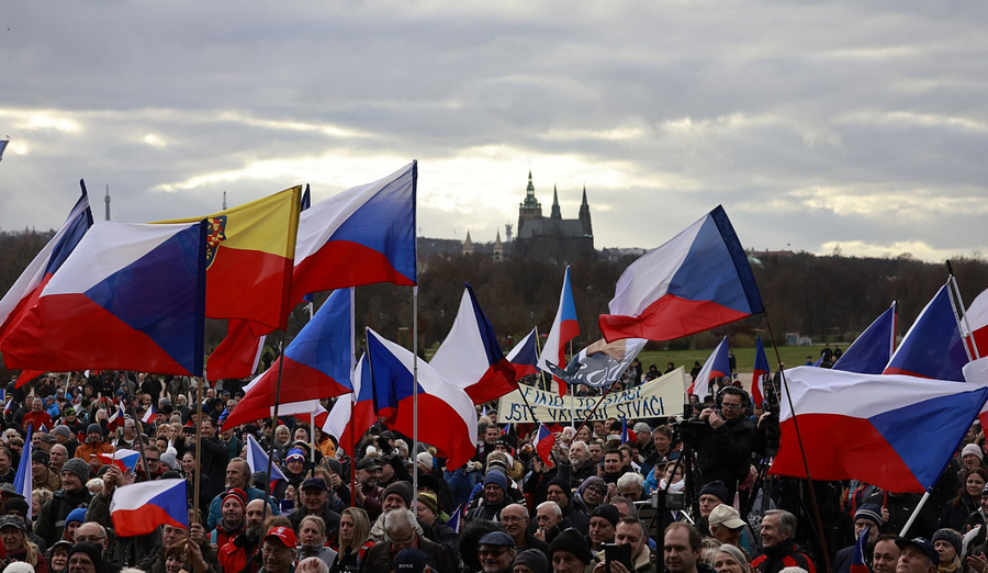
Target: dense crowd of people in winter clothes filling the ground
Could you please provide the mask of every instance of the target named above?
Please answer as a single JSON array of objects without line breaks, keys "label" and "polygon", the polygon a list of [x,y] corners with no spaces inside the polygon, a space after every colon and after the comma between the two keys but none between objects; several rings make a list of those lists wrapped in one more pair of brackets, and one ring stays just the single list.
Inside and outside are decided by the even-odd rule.
[{"label": "dense crowd of people in winter clothes filling the ground", "polygon": [[[356,445],[305,417],[226,427],[244,395],[233,383],[200,396],[155,374],[11,382],[0,558],[18,573],[857,573],[862,538],[873,573],[988,573],[979,428],[922,510],[914,494],[858,482],[816,484],[835,503],[810,507],[805,484],[760,471],[772,412],[730,381],[718,389],[692,396],[685,419],[553,427],[549,451],[538,428],[498,424],[492,403],[476,454],[451,468],[380,426]],[[251,470],[250,437],[283,480]],[[19,493],[25,440],[32,491]],[[117,449],[142,453],[133,471],[108,463]],[[114,493],[168,478],[189,482],[190,525],[115,535]]]}]

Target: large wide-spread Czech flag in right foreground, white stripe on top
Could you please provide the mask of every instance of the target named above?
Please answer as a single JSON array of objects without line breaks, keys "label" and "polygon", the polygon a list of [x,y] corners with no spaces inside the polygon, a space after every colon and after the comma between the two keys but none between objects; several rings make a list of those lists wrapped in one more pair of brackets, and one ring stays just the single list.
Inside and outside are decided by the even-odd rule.
[{"label": "large wide-spread Czech flag in right foreground, white stripe on top", "polygon": [[889,492],[933,487],[988,400],[985,385],[900,374],[798,367],[786,370],[786,382],[772,473],[806,476],[798,423],[813,480],[860,480]]}]

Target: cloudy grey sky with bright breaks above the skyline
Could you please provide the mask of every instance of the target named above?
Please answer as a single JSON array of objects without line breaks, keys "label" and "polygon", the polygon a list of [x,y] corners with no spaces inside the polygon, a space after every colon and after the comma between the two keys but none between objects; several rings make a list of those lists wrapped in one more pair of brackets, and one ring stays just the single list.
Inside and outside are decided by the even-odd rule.
[{"label": "cloudy grey sky with bright breaks above the skyline", "polygon": [[419,161],[420,235],[492,240],[529,168],[595,243],[722,203],[745,247],[988,254],[988,3],[7,2],[0,229],[314,200]]}]

